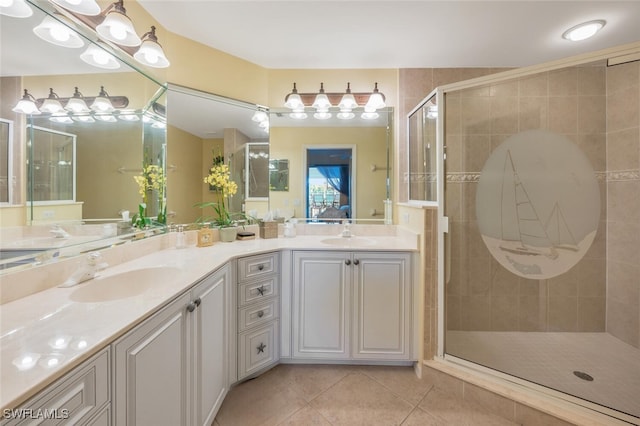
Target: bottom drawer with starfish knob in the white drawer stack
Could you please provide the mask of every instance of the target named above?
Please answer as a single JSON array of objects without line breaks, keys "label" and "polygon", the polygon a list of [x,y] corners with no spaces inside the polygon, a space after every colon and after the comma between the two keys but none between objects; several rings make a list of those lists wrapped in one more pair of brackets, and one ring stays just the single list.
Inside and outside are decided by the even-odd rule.
[{"label": "bottom drawer with starfish knob in the white drawer stack", "polygon": [[239,354],[238,379],[275,364],[279,358],[278,321],[238,336]]}]

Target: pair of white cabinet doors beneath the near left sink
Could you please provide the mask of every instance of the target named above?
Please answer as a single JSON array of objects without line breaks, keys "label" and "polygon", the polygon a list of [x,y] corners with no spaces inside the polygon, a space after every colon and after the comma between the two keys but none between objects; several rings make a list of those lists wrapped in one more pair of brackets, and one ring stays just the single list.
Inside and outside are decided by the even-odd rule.
[{"label": "pair of white cabinet doors beneath the near left sink", "polygon": [[229,266],[113,344],[114,423],[210,425],[228,390]]}]

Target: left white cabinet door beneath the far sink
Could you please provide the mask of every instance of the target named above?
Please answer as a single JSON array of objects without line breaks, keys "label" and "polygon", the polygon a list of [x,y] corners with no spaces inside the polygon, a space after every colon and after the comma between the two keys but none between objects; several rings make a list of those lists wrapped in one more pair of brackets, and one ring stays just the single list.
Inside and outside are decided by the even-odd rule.
[{"label": "left white cabinet door beneath the far sink", "polygon": [[345,252],[294,252],[295,357],[349,357],[350,258]]}]

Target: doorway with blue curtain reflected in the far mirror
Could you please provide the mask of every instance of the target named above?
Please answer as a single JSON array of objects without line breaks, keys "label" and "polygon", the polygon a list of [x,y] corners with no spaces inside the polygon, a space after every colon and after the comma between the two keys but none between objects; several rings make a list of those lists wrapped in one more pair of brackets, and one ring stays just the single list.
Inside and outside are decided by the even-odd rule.
[{"label": "doorway with blue curtain reflected in the far mirror", "polygon": [[307,217],[326,221],[355,217],[354,151],[353,147],[306,148]]}]

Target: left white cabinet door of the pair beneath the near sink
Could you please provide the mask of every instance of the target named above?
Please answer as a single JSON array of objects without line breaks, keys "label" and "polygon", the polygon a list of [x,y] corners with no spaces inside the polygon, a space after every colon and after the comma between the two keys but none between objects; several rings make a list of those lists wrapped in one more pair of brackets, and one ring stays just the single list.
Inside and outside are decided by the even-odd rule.
[{"label": "left white cabinet door of the pair beneath the near sink", "polygon": [[185,294],[114,343],[114,424],[186,425]]}]

